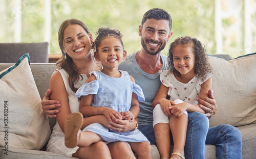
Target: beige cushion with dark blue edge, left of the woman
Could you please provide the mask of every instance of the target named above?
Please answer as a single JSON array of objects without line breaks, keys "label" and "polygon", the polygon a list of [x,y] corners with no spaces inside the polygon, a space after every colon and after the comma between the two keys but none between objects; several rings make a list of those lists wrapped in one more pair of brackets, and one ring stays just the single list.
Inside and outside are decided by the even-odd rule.
[{"label": "beige cushion with dark blue edge, left of the woman", "polygon": [[40,149],[51,131],[41,109],[41,98],[30,69],[28,54],[0,72],[0,147]]}]

